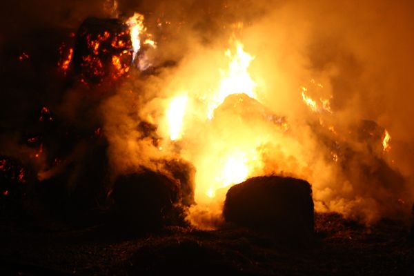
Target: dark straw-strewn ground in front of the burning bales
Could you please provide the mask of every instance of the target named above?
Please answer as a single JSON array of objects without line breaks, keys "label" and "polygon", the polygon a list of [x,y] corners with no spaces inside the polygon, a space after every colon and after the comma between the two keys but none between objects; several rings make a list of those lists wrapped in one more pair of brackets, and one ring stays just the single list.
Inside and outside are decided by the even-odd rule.
[{"label": "dark straw-strewn ground in front of the burning bales", "polygon": [[389,220],[316,215],[315,240],[302,244],[233,226],[132,236],[106,224],[0,224],[0,275],[414,275],[407,228]]}]

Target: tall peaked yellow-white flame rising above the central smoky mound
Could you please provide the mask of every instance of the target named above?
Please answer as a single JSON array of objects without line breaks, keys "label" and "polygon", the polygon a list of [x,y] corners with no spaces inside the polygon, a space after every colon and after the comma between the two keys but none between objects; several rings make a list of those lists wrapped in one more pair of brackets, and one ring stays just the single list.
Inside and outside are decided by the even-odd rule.
[{"label": "tall peaked yellow-white flame rising above the central smoky mound", "polygon": [[228,72],[226,74],[222,73],[223,78],[220,81],[219,88],[208,103],[208,119],[213,118],[214,110],[223,103],[228,95],[244,93],[253,99],[257,98],[255,93],[257,84],[248,73],[250,62],[255,57],[244,52],[244,46],[240,41],[236,40],[235,45],[236,52],[234,55],[230,49],[225,52],[226,57],[230,59]]}]

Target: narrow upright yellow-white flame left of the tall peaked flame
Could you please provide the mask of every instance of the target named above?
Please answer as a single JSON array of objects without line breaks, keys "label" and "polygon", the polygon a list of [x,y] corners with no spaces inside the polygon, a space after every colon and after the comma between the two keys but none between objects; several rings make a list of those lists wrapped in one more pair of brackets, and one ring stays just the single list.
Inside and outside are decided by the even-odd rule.
[{"label": "narrow upright yellow-white flame left of the tall peaked flame", "polygon": [[170,102],[167,110],[168,128],[170,139],[175,141],[182,136],[183,119],[186,112],[188,96],[177,96]]}]

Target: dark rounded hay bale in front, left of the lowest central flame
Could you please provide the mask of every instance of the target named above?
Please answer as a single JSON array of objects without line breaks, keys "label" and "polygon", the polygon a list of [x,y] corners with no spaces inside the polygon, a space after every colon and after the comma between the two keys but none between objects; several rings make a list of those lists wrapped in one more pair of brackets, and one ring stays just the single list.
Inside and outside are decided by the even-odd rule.
[{"label": "dark rounded hay bale in front, left of the lowest central flame", "polygon": [[135,229],[162,226],[178,199],[176,181],[157,172],[121,175],[112,190],[117,216]]}]

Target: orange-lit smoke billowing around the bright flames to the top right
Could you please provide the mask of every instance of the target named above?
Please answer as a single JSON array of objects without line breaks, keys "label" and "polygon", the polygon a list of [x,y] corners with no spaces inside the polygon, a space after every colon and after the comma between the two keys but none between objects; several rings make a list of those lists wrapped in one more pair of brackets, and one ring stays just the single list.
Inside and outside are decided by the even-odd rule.
[{"label": "orange-lit smoke billowing around the bright flames to the top right", "polygon": [[[413,178],[409,165],[413,160],[411,108],[407,106],[413,97],[409,78],[411,52],[408,51],[413,41],[407,36],[413,26],[409,2],[151,3],[143,1],[140,6],[152,11],[148,13],[148,22],[161,18],[171,25],[161,30],[167,39],[159,42],[153,59],[159,65],[170,59],[177,66],[163,68],[159,75],[144,78],[137,85],[139,89],[131,89],[139,90],[140,99],[146,98],[132,101],[137,103],[136,119],[117,116],[131,114],[125,112],[129,98],[125,100],[118,94],[106,103],[118,107],[116,112],[106,112],[111,121],[128,122],[121,123],[125,129],[110,131],[116,133],[118,139],[112,143],[113,155],[124,153],[120,155],[124,161],[117,159],[116,166],[148,166],[151,159],[163,158],[172,150],[195,164],[197,186],[208,186],[203,182],[211,180],[208,175],[215,172],[212,164],[221,160],[231,145],[230,148],[244,153],[260,152],[260,161],[249,164],[249,176],[282,174],[310,181],[317,210],[337,211],[371,222],[409,208],[408,202],[412,201],[409,187]],[[239,22],[243,22],[243,28],[235,27]],[[257,83],[257,100],[268,114],[286,117],[290,129],[287,132],[275,130],[274,124],[253,114],[262,110],[252,109],[248,106],[250,103],[246,103],[250,113],[241,111],[235,115],[237,111],[231,107],[234,104],[231,99],[228,103],[225,101],[215,111],[215,118],[206,124],[203,111],[194,108],[199,103],[190,102],[187,107],[190,110],[186,110],[184,118],[185,138],[178,144],[179,149],[177,144],[172,149],[163,144],[163,150],[157,151],[144,139],[132,143],[139,145],[132,150],[139,154],[131,154],[128,145],[133,139],[126,137],[135,133],[136,140],[140,136],[132,130],[137,121],[150,121],[159,126],[157,132],[166,138],[165,112],[170,99],[190,95],[193,101],[202,101],[203,90],[215,89],[221,77],[219,70],[226,68],[223,52],[233,34],[255,57],[248,70]],[[317,83],[321,86],[317,87]],[[302,101],[302,86],[316,99],[330,99],[333,114],[310,112]],[[110,110],[107,106],[105,109]],[[237,123],[240,119],[242,121]],[[358,129],[362,120],[376,122],[376,131],[383,127],[391,133],[391,152],[377,150],[373,153],[370,143],[378,144],[380,140],[367,142],[357,137],[364,129]],[[332,124],[342,130],[345,136],[337,139],[347,139],[346,147],[353,152],[352,156],[343,157],[346,163],[338,165],[326,158],[331,157],[332,148],[324,144],[326,137],[315,129],[315,122],[326,128]],[[252,143],[252,139],[257,141]],[[124,145],[123,149],[119,149],[119,144]],[[135,157],[130,160],[126,155]],[[220,200],[225,191],[217,192],[221,193]],[[205,195],[199,195],[198,199],[199,202],[208,201]],[[402,202],[407,203],[402,206]],[[194,212],[199,213],[204,213],[204,209],[200,207]],[[208,215],[201,217],[208,220]]]}]

